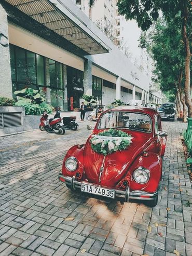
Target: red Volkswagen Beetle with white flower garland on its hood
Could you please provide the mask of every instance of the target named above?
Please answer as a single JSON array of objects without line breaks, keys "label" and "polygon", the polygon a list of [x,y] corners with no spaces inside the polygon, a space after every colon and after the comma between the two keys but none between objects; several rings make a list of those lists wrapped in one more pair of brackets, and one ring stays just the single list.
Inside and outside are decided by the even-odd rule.
[{"label": "red Volkswagen Beetle with white flower garland on its hood", "polygon": [[86,144],[68,150],[59,180],[90,196],[156,206],[166,139],[159,113],[153,109],[107,110]]}]

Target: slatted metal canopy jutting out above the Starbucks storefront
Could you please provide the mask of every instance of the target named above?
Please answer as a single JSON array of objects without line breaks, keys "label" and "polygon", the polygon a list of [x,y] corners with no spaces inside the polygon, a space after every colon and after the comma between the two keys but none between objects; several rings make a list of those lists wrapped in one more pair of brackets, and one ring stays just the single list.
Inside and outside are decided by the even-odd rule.
[{"label": "slatted metal canopy jutting out above the Starbucks storefront", "polygon": [[45,25],[48,29],[64,37],[80,49],[83,49],[87,52],[87,55],[106,53],[109,51],[106,45],[102,45],[102,42],[98,42],[101,41],[97,40],[99,39],[98,37],[95,39],[85,32],[83,28],[80,28],[79,25],[85,26],[86,28],[84,23],[76,24],[57,8],[57,4],[51,3],[49,0],[5,1]]}]

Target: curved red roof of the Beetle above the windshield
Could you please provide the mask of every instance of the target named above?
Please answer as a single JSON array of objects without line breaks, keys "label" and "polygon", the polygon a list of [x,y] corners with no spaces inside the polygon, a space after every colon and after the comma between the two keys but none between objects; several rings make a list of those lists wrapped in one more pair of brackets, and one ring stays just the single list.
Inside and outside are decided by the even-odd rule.
[{"label": "curved red roof of the Beetle above the windshield", "polygon": [[136,106],[117,106],[112,109],[108,109],[105,112],[113,112],[113,111],[127,111],[127,112],[140,112],[142,114],[147,114],[150,117],[154,117],[158,114],[158,112],[154,109],[149,109],[148,107],[136,107]]}]

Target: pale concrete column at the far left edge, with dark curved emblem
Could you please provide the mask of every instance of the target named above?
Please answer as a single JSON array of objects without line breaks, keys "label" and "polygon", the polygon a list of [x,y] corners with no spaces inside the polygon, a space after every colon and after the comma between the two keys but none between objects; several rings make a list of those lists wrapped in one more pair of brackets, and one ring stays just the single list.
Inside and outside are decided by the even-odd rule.
[{"label": "pale concrete column at the far left edge, with dark curved emblem", "polygon": [[12,98],[7,12],[0,4],[0,95]]}]

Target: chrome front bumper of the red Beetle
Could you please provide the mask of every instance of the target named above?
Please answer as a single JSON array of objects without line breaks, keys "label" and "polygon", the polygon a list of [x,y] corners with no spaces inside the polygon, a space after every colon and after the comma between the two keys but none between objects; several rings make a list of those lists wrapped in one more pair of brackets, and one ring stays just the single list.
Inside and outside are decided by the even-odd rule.
[{"label": "chrome front bumper of the red Beetle", "polygon": [[[82,181],[75,180],[75,176],[69,177],[64,176],[61,172],[59,172],[59,180],[64,182],[67,187],[71,188],[71,190],[80,190],[81,189],[81,183]],[[89,185],[98,186],[97,184],[84,182]],[[105,187],[106,188],[106,187]],[[144,191],[131,191],[129,190],[129,187],[126,188],[126,190],[116,190],[113,188],[109,188],[115,191],[115,199],[120,201],[129,202],[129,200],[147,200],[152,201],[155,200],[155,198],[158,196],[158,191],[155,193],[147,193]],[[94,195],[94,194],[93,194]]]}]

